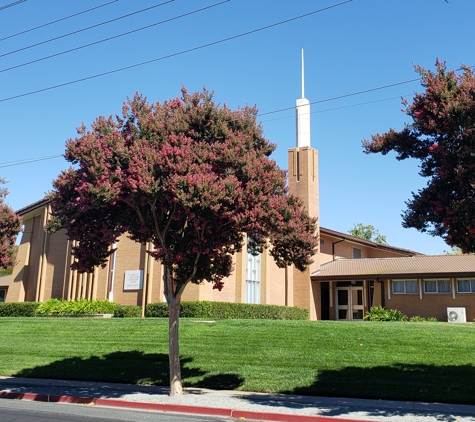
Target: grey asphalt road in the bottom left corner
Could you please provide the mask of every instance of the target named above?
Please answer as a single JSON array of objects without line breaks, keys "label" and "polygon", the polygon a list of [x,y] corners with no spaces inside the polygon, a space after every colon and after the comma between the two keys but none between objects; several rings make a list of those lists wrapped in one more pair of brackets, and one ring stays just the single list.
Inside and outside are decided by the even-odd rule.
[{"label": "grey asphalt road in the bottom left corner", "polygon": [[87,405],[0,400],[2,422],[229,422],[227,418],[110,409]]}]

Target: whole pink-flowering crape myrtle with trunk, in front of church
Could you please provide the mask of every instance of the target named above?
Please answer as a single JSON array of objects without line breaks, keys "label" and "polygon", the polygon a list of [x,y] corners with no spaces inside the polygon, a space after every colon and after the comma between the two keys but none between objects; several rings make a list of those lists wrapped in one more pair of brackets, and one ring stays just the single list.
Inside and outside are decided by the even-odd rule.
[{"label": "whole pink-flowering crape myrtle with trunk, in front of church", "polygon": [[257,109],[231,110],[213,94],[149,104],[136,94],[122,117],[99,117],[66,144],[75,165],[53,182],[50,230],[65,228],[72,268],[104,265],[121,234],[165,267],[170,394],[182,394],[180,299],[188,283],[221,290],[245,235],[253,252],[269,248],[279,267],[304,270],[316,251],[316,221],[286,188],[269,158],[275,146],[256,124]]}]

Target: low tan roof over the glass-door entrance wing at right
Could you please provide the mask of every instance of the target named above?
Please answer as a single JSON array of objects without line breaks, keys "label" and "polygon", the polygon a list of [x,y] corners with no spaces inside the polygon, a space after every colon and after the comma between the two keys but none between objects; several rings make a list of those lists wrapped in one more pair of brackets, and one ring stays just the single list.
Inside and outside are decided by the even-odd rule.
[{"label": "low tan roof over the glass-door entrance wing at right", "polygon": [[314,280],[474,277],[475,255],[416,255],[400,258],[336,259],[312,274]]}]

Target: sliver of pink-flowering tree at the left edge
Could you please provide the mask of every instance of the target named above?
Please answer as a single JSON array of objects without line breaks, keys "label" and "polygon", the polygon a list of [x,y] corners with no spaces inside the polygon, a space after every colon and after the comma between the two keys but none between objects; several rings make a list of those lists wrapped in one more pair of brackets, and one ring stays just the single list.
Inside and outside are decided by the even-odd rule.
[{"label": "sliver of pink-flowering tree at the left edge", "polygon": [[[0,186],[5,184],[0,178]],[[15,265],[15,242],[21,231],[21,219],[5,203],[6,188],[0,187],[0,269],[10,270]]]}]

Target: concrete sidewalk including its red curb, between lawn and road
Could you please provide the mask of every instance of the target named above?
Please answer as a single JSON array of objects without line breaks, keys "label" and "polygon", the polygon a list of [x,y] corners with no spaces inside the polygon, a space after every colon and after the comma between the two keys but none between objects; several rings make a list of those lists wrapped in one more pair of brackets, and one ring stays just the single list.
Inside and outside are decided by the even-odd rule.
[{"label": "concrete sidewalk including its red curb, between lawn and road", "polygon": [[475,406],[0,377],[0,398],[292,422],[474,422]]}]

